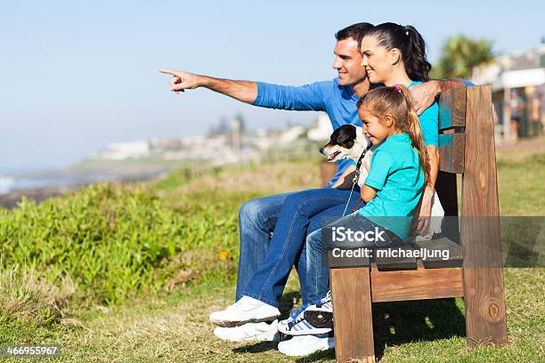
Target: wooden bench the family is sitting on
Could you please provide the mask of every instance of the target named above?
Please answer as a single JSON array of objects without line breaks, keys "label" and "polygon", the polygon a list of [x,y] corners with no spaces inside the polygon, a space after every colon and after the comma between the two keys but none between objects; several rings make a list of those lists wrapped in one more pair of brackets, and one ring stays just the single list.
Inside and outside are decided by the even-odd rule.
[{"label": "wooden bench the family is sitting on", "polygon": [[[460,228],[427,243],[447,246],[454,254],[458,246],[463,266],[454,258],[447,266],[415,259],[397,266],[386,262],[381,268],[385,262],[380,260],[354,264],[329,254],[338,362],[375,360],[371,303],[379,302],[463,297],[468,346],[507,343],[491,87],[456,87],[443,93],[439,129],[435,189],[445,214],[457,216],[456,174],[462,175]],[[481,228],[478,218],[471,217],[482,216],[496,218],[488,218]],[[453,241],[457,235],[461,251]]]}]

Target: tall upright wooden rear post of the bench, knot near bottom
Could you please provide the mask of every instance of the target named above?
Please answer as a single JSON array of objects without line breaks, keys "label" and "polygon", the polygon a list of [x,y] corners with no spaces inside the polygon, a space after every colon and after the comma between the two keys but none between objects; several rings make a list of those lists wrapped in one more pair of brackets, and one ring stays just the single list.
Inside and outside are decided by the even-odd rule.
[{"label": "tall upright wooden rear post of the bench, knot near bottom", "polygon": [[491,87],[468,87],[460,237],[469,346],[507,343],[493,137]]}]

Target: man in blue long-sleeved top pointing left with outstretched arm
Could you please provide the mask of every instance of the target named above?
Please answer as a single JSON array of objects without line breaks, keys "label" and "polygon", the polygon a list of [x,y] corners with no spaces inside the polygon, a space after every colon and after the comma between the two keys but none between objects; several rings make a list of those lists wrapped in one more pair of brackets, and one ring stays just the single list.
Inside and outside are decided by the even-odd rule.
[{"label": "man in blue long-sleeved top pointing left with outstretched arm", "polygon": [[[160,69],[159,71],[173,76],[171,80],[171,91],[173,92],[184,92],[186,89],[205,87],[217,93],[228,95],[235,100],[259,107],[325,111],[334,129],[345,124],[360,124],[356,101],[369,91],[370,83],[365,69],[361,66],[362,55],[359,52],[359,43],[364,32],[370,27],[369,23],[358,23],[339,30],[335,35],[337,42],[334,48],[335,60],[332,67],[338,71],[338,77],[331,81],[294,87],[219,79],[169,69]],[[412,87],[411,92],[417,101],[418,111],[421,112],[427,109],[435,100],[435,96],[442,91],[442,87],[460,85],[456,81],[453,82],[430,81]],[[338,173],[329,181],[328,186],[337,181],[338,177],[350,164],[347,160],[339,162]],[[240,208],[240,260],[237,279],[237,303],[225,311],[213,313],[211,315],[213,321],[217,318],[217,320],[226,319],[232,323],[233,319],[230,319],[232,316],[243,317],[235,319],[239,320],[240,323],[256,320],[256,317],[252,317],[251,314],[254,311],[263,311],[264,309],[269,309],[271,316],[280,313],[273,306],[261,303],[258,299],[246,299],[248,296],[244,296],[243,292],[256,270],[264,262],[269,248],[277,248],[277,246],[270,246],[271,232],[274,230],[281,206],[288,195],[281,194],[257,198],[248,201]],[[299,254],[295,261],[301,284],[301,293],[305,300],[305,254]],[[306,302],[304,301],[304,303]],[[215,334],[220,338],[237,341],[249,339],[273,340],[277,336],[276,333],[275,322],[273,324],[250,322],[239,327],[218,327],[215,330]],[[308,335],[306,336],[308,337]],[[292,341],[297,343],[295,338],[289,342]],[[309,349],[312,352],[314,348],[309,346]],[[320,349],[323,348],[316,345],[315,350]],[[309,351],[305,352],[308,353]]]}]

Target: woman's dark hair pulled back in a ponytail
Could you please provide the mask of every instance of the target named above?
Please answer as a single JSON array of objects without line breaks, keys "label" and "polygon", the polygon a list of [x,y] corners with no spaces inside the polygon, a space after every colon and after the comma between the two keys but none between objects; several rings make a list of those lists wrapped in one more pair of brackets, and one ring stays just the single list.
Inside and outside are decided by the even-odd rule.
[{"label": "woman's dark hair pulled back in a ponytail", "polygon": [[365,32],[365,36],[377,36],[378,44],[386,50],[401,51],[407,75],[413,81],[426,82],[431,64],[426,58],[426,42],[411,25],[403,26],[391,22],[378,24]]}]

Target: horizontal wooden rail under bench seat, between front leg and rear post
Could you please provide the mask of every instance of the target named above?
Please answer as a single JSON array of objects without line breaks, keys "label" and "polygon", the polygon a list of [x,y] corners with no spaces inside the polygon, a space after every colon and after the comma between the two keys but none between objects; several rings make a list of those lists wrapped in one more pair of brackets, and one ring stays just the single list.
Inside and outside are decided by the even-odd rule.
[{"label": "horizontal wooden rail under bench seat, between front leg and rear post", "polygon": [[423,299],[442,299],[463,296],[462,269],[370,271],[373,303]]}]

